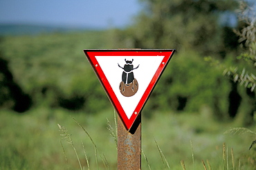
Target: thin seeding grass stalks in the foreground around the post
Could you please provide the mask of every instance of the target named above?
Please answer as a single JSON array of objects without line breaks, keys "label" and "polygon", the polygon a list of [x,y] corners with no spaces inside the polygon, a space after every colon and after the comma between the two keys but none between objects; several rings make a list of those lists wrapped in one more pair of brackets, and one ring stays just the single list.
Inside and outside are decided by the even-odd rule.
[{"label": "thin seeding grass stalks in the foreground around the post", "polygon": [[[95,144],[93,138],[91,137],[91,135],[89,135],[88,131],[86,131],[86,129],[84,129],[84,127],[79,122],[77,122],[77,120],[75,120],[75,118],[72,117],[72,119],[76,122],[77,125],[80,126],[80,128],[84,131],[84,133],[86,133],[86,135],[91,140],[91,143],[93,144],[93,147],[94,147],[94,154],[95,154],[95,161],[96,161],[96,164],[97,164],[97,169],[99,169],[98,155],[100,155],[100,158],[101,158],[102,162],[104,163],[105,169],[110,169],[107,158],[104,156],[103,153],[100,153],[98,151],[98,147],[96,146],[96,144]],[[112,126],[111,121],[109,119],[107,119],[107,130],[109,131],[109,134],[111,135],[114,143],[116,144],[116,149],[117,149],[117,142],[118,141],[117,141],[116,113],[114,113],[114,119],[113,120],[114,120],[114,126]],[[71,135],[68,135],[67,130],[63,126],[60,126],[60,124],[58,124],[58,126],[61,129],[60,131],[62,131],[62,136],[64,137],[64,139],[66,139],[66,141],[69,144],[71,144],[71,146],[73,147],[73,149],[75,151],[75,155],[77,155],[77,152],[76,152],[76,150],[74,148],[74,145],[73,145],[73,142],[71,140]],[[226,131],[225,134],[226,133],[236,134],[239,131],[240,131],[240,133],[255,134],[253,131],[250,131],[249,129],[246,129],[246,128],[230,129],[230,130]],[[158,142],[156,142],[155,138],[154,138],[154,143],[155,143],[156,149],[159,153],[159,158],[161,158],[161,162],[162,162],[162,166],[163,166],[162,168],[163,169],[172,169],[172,166],[170,166],[169,162],[167,161],[167,158],[166,158],[165,154],[163,153],[163,151],[162,151],[160,145],[158,144]],[[85,151],[83,143],[82,143],[82,146],[83,146],[83,149],[84,149],[84,155],[85,155],[85,158],[86,158],[87,168],[90,169],[89,158],[86,155],[86,151]],[[62,146],[62,148],[63,148],[63,146]],[[195,160],[194,146],[192,144],[192,140],[190,140],[190,149],[191,149],[191,155],[192,155],[192,169],[195,170],[195,169],[198,169],[198,165],[196,165],[197,162]],[[63,150],[64,150],[64,148],[63,148]],[[147,169],[151,170],[152,167],[150,166],[150,160],[147,158],[147,155],[145,155],[145,152],[143,151],[143,149],[142,149],[141,153],[142,153],[143,157],[145,158],[145,162],[147,164]],[[65,159],[66,159],[66,157],[65,157]],[[79,161],[78,155],[77,155],[77,160],[78,160],[78,163],[80,164],[80,169],[84,169],[84,167],[82,167],[82,165]],[[205,162],[205,160],[206,160],[206,162]],[[185,167],[185,162],[188,162],[188,161],[189,160],[184,160],[184,159],[181,160],[181,167],[182,167],[183,170],[188,169],[188,168]],[[208,160],[208,159],[201,159],[201,168],[203,168],[205,170],[212,170],[212,164],[210,162],[211,161]],[[217,168],[216,167],[216,162],[214,164],[215,164],[214,169],[216,169]],[[231,167],[230,167],[230,165],[231,165]],[[241,160],[239,159],[238,163],[236,163],[234,149],[233,148],[229,149],[226,142],[223,142],[223,144],[222,144],[222,167],[220,167],[219,169],[223,169],[223,170],[238,169],[239,170],[240,167],[241,167]]]}]

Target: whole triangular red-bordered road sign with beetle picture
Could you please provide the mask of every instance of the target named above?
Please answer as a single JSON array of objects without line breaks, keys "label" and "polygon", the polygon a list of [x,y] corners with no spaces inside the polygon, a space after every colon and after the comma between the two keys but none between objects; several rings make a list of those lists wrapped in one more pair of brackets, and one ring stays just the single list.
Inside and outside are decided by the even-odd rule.
[{"label": "whole triangular red-bordered road sign with beetle picture", "polygon": [[84,50],[109,100],[131,129],[175,50]]}]

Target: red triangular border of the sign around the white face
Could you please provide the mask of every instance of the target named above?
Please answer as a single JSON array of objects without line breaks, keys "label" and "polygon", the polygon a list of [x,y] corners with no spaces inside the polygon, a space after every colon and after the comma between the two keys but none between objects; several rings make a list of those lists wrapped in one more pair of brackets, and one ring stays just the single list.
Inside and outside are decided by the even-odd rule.
[{"label": "red triangular border of the sign around the white face", "polygon": [[[98,79],[100,80],[100,83],[102,84],[105,92],[107,93],[107,96],[109,97],[109,100],[111,101],[112,105],[118,112],[118,114],[121,117],[122,122],[124,123],[127,130],[131,129],[131,126],[134,124],[136,117],[140,114],[143,106],[145,106],[145,103],[147,102],[147,99],[149,95],[152,93],[154,86],[156,86],[156,83],[158,82],[158,79],[161,77],[161,74],[163,73],[163,70],[167,66],[167,64],[170,62],[170,59],[172,58],[172,55],[174,55],[175,50],[174,49],[155,49],[155,50],[145,50],[145,49],[109,49],[109,50],[93,50],[93,49],[84,49],[84,53],[89,60],[91,66],[93,67],[93,70],[95,74],[98,76]],[[127,115],[125,114],[125,111],[123,110],[120,102],[118,101],[118,98],[116,97],[116,94],[113,92],[113,89],[111,88],[111,85],[109,84],[109,81],[107,80],[107,77],[104,75],[104,72],[102,68],[100,67],[100,64],[98,63],[97,59],[95,59],[95,56],[157,56],[161,55],[164,56],[160,66],[158,66],[158,69],[156,70],[156,73],[154,74],[154,77],[152,78],[151,82],[149,83],[149,86],[147,87],[145,93],[143,94],[143,97],[141,97],[140,102],[138,102],[138,105],[136,106],[136,109],[134,113],[131,115],[130,119],[128,119]],[[137,113],[137,114],[136,114]]]}]

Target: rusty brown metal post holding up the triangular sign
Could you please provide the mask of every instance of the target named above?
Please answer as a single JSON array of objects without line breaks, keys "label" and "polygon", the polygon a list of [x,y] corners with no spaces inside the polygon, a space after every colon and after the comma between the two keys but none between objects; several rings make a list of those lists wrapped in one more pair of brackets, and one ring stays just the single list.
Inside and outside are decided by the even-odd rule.
[{"label": "rusty brown metal post holding up the triangular sign", "polygon": [[141,119],[138,115],[133,129],[127,131],[118,116],[118,169],[141,169]]}]

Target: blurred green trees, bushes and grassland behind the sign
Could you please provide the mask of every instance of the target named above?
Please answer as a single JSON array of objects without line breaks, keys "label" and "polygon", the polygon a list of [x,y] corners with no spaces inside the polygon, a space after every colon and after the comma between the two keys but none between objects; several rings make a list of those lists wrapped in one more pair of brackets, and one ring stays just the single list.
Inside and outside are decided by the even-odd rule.
[{"label": "blurred green trees, bushes and grassland behind the sign", "polygon": [[[1,37],[1,169],[66,168],[57,124],[71,129],[86,167],[84,142],[95,169],[93,145],[69,115],[85,126],[110,169],[116,169],[106,120],[113,124],[113,108],[84,48],[176,48],[142,114],[143,151],[152,169],[166,167],[154,139],[171,169],[182,169],[181,160],[187,169],[203,169],[202,159],[213,169],[227,169],[224,142],[226,151],[235,151],[236,169],[239,162],[240,169],[255,167],[255,147],[248,151],[255,135],[223,135],[235,126],[255,130],[254,8],[221,0],[141,2],[144,10],[122,30]],[[63,144],[68,167],[78,169],[73,150]],[[104,169],[100,158],[99,166]]]}]

